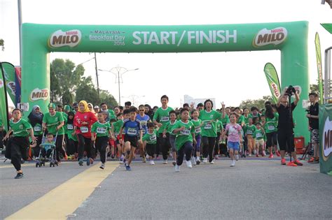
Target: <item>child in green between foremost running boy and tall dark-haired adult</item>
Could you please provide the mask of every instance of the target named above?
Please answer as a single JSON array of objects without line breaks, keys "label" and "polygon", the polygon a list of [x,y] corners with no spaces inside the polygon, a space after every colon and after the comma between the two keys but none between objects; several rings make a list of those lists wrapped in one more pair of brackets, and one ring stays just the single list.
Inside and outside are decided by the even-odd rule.
[{"label": "child in green between foremost running boy and tall dark-haired adult", "polygon": [[198,117],[200,116],[200,112],[198,110],[193,110],[191,112],[193,125],[195,126],[195,140],[196,142],[193,145],[193,158],[191,159],[193,165],[200,165],[200,142],[202,140],[202,126],[204,123]]}]

